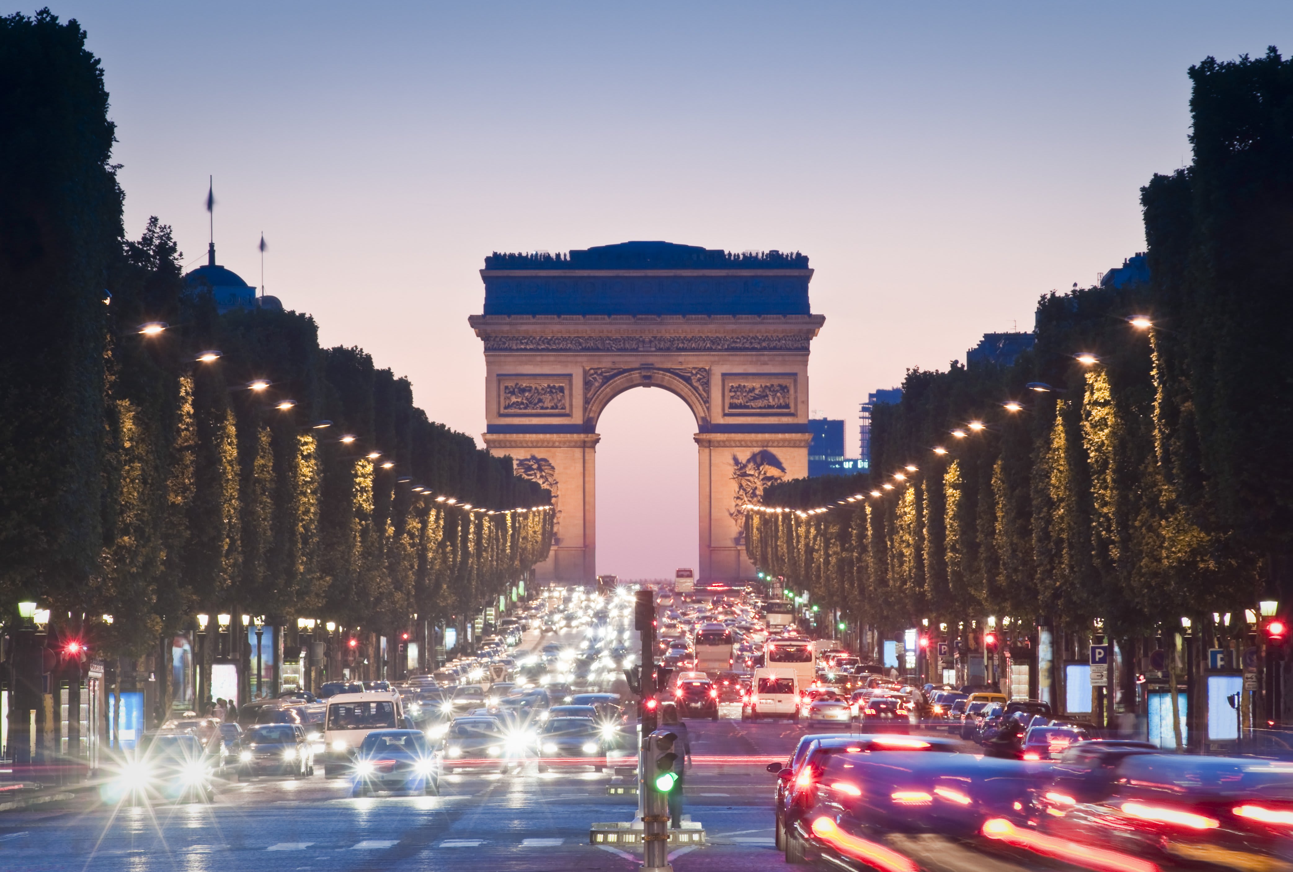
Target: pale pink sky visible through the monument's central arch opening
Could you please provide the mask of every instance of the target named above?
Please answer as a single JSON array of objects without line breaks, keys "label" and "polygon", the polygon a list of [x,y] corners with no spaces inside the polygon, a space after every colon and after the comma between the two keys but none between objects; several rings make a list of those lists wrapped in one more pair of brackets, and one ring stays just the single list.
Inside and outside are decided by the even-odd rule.
[{"label": "pale pink sky visible through the monument's central arch opening", "polygon": [[597,575],[698,567],[696,420],[666,390],[626,390],[597,421]]}]

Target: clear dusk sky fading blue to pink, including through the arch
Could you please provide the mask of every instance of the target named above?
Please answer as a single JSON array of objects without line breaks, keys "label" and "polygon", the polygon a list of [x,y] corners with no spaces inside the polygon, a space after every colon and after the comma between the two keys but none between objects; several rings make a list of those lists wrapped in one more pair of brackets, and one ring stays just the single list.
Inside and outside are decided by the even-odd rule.
[{"label": "clear dusk sky fading blue to pink, including through the arch", "polygon": [[[802,251],[811,406],[844,417],[1144,248],[1187,68],[1293,50],[1289,3],[52,3],[103,62],[127,229],[219,262],[484,430],[493,251]],[[26,12],[31,12],[30,9]],[[597,566],[694,566],[694,420],[599,430]]]}]

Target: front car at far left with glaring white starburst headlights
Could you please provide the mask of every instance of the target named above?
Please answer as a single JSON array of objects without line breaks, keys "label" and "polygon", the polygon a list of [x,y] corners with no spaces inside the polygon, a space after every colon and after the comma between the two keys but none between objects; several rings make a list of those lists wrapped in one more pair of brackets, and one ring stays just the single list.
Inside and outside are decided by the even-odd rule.
[{"label": "front car at far left with glaring white starburst headlights", "polygon": [[191,732],[150,732],[138,748],[106,767],[100,798],[112,805],[159,801],[211,802],[215,798],[211,757]]}]

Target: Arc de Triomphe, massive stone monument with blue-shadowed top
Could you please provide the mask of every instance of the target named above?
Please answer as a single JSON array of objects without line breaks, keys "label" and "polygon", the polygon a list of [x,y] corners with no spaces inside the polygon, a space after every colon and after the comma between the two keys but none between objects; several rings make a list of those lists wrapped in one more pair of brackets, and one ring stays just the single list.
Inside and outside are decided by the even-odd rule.
[{"label": "Arc de Triomphe, massive stone monument with blue-shadowed top", "polygon": [[538,579],[595,577],[597,419],[631,388],[663,388],[696,417],[700,580],[749,579],[742,505],[808,474],[808,307],[802,254],[631,242],[566,256],[494,254],[481,270],[485,444],[552,490]]}]

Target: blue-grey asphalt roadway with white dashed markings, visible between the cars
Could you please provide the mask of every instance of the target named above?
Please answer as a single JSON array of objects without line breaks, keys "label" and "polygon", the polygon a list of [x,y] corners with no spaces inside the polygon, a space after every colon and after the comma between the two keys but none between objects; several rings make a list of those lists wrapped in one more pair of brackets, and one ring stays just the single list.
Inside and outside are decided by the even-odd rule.
[{"label": "blue-grey asphalt roadway with white dashed markings, visible between the cars", "polygon": [[[525,647],[551,639],[528,634]],[[688,721],[696,763],[684,782],[685,813],[703,824],[707,844],[675,849],[675,872],[785,864],[773,847],[775,780],[765,766],[787,758],[806,727],[742,722],[738,705],[721,714]],[[319,774],[231,783],[211,805],[16,811],[0,815],[0,869],[631,872],[639,851],[588,840],[590,824],[636,811],[635,796],[608,794],[613,778],[590,769],[540,774],[530,763],[506,775],[446,775],[440,796],[352,798],[348,783]]]}]

